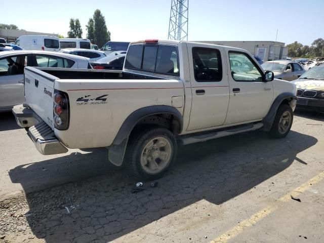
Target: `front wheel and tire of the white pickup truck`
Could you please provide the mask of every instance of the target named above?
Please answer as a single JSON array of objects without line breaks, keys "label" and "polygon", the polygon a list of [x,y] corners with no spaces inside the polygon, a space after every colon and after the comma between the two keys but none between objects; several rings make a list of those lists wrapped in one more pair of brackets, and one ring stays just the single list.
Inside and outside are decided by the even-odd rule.
[{"label": "front wheel and tire of the white pickup truck", "polygon": [[294,114],[290,105],[281,104],[276,112],[271,130],[268,132],[272,138],[284,138],[293,125]]}]

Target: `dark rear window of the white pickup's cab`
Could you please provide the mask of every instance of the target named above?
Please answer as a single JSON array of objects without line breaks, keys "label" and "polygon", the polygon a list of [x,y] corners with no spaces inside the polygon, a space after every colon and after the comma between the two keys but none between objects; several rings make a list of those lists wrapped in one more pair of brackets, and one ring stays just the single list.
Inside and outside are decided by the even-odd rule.
[{"label": "dark rear window of the white pickup's cab", "polygon": [[179,76],[177,47],[132,45],[127,53],[125,68]]}]

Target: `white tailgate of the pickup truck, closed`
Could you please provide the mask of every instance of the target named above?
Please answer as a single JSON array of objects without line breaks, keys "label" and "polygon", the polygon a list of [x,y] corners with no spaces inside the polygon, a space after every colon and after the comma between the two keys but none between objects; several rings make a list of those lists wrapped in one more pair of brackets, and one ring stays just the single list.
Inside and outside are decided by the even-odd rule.
[{"label": "white tailgate of the pickup truck, closed", "polygon": [[27,105],[54,130],[53,95],[57,77],[25,67],[25,99]]}]

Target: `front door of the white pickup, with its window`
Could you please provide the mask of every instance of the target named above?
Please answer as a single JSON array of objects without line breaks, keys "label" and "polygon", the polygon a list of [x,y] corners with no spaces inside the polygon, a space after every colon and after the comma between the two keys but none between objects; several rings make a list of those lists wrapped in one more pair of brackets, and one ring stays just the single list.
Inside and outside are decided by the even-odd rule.
[{"label": "front door of the white pickup, with its window", "polygon": [[230,98],[225,125],[264,118],[272,103],[272,83],[263,82],[263,71],[250,55],[231,50],[226,52],[230,66]]}]

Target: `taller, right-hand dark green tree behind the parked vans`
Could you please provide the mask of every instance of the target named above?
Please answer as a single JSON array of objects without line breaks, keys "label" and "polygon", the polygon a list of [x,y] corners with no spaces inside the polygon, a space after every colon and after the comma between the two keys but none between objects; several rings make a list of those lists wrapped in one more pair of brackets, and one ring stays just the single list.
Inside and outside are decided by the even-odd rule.
[{"label": "taller, right-hand dark green tree behind the parked vans", "polygon": [[94,43],[98,47],[102,47],[108,39],[110,40],[110,32],[107,30],[105,17],[97,9],[93,15],[94,22]]}]

